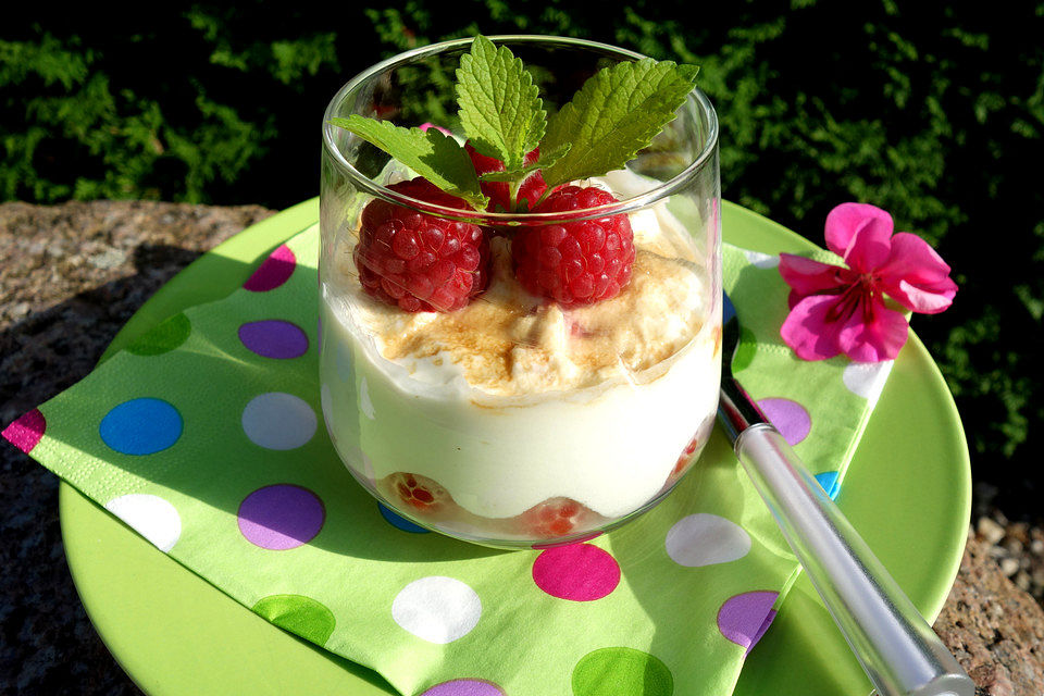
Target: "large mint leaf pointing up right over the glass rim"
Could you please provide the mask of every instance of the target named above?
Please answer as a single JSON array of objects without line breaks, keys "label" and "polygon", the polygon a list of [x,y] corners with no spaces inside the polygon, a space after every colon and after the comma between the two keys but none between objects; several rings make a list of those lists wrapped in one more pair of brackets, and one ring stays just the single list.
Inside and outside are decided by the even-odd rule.
[{"label": "large mint leaf pointing up right over the glass rim", "polygon": [[698,70],[644,58],[607,67],[584,83],[548,121],[542,151],[572,144],[544,169],[548,188],[621,169],[674,120]]}]

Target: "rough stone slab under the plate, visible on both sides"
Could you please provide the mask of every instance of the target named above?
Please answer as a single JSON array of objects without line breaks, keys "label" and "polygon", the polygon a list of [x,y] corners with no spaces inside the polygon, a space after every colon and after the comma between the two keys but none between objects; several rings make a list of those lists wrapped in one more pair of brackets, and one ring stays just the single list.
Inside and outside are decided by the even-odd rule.
[{"label": "rough stone slab under the plate, visible on both sides", "polygon": [[[0,427],[90,372],[177,271],[270,214],[145,201],[0,204]],[[138,693],[69,576],[58,480],[7,443],[0,457],[0,693]],[[969,539],[935,629],[981,696],[1041,696],[1044,611],[998,562],[1018,558],[1015,576],[1034,582],[1037,566],[1024,559],[1044,552],[1044,536],[994,518],[981,526],[989,542]]]}]

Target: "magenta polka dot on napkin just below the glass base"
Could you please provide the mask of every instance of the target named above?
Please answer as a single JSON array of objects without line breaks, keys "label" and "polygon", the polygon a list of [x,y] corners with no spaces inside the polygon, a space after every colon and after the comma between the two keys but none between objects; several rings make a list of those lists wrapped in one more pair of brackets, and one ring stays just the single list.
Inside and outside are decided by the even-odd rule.
[{"label": "magenta polka dot on napkin just below the glass base", "polygon": [[608,551],[591,544],[559,546],[536,557],[533,581],[552,597],[593,601],[620,584],[620,564]]}]

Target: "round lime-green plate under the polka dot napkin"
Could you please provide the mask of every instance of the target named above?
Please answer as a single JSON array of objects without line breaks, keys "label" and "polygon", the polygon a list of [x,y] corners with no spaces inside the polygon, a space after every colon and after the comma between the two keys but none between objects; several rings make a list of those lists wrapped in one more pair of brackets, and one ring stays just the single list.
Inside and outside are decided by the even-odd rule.
[{"label": "round lime-green plate under the polka dot napkin", "polygon": [[[805,239],[738,206],[724,238],[775,253]],[[173,278],[109,351],[185,308],[224,297],[283,240],[319,219],[318,200],[250,227]],[[968,448],[953,398],[920,340],[910,340],[845,477],[837,504],[925,617],[949,592],[971,505]],[[95,627],[149,694],[395,694],[375,672],[272,626],[158,551],[72,486],[60,497],[65,554]],[[737,694],[867,694],[869,682],[801,579],[743,670]],[[679,691],[678,696],[686,696]]]}]

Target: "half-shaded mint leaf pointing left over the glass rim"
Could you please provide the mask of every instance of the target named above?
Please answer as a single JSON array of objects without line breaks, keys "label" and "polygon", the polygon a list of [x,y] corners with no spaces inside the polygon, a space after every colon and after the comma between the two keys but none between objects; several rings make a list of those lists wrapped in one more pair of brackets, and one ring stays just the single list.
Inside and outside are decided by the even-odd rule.
[{"label": "half-shaded mint leaf pointing left over the glass rim", "polygon": [[471,157],[457,140],[438,128],[402,128],[390,121],[351,114],[331,123],[351,130],[381,148],[447,194],[463,198],[475,210],[485,210],[489,199],[478,188]]}]

